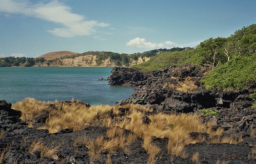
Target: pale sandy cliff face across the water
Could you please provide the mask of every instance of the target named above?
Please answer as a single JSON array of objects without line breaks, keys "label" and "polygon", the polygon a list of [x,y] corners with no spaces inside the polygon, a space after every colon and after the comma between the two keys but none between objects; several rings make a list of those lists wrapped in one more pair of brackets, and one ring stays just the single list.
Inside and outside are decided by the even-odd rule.
[{"label": "pale sandy cliff face across the water", "polygon": [[[138,60],[130,60],[130,66],[148,61],[149,57],[139,57]],[[50,63],[50,67],[116,67],[117,65],[110,61],[110,58],[103,60],[100,65],[96,63],[97,55],[85,55],[74,58],[57,59]],[[36,63],[35,66],[47,67],[47,63]],[[122,65],[125,67],[125,65]]]}]

